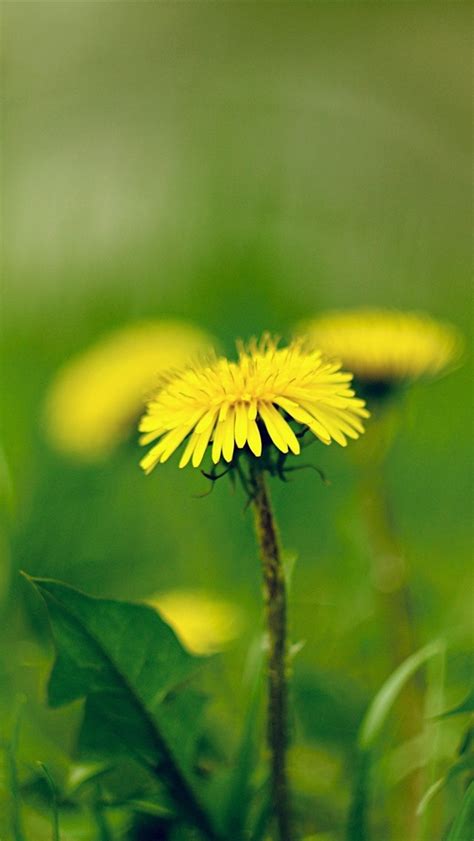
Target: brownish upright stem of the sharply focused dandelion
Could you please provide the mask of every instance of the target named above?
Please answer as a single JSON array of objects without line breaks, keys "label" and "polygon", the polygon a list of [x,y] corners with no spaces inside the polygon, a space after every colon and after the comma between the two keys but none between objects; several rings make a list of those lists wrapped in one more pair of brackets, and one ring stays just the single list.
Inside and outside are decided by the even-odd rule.
[{"label": "brownish upright stem of the sharply focused dandelion", "polygon": [[255,531],[263,572],[268,634],[267,738],[271,762],[273,814],[278,841],[290,841],[290,802],[286,768],[288,745],[286,584],[277,528],[264,473],[252,468]]}]

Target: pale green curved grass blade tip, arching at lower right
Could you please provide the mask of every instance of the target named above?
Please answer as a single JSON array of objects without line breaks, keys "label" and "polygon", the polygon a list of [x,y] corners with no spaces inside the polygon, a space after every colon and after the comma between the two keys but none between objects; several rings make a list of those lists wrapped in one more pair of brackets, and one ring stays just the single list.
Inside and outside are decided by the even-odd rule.
[{"label": "pale green curved grass blade tip, arching at lower right", "polygon": [[411,676],[427,660],[443,651],[444,644],[441,641],[432,642],[412,654],[392,672],[377,692],[361,724],[358,739],[361,750],[369,750],[373,746],[395,701]]}]

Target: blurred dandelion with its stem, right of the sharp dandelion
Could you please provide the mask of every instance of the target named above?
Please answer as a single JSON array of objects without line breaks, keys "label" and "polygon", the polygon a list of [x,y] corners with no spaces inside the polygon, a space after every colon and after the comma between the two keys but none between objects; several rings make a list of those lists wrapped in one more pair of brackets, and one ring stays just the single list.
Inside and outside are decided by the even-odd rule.
[{"label": "blurred dandelion with its stem, right of the sharp dandelion", "polygon": [[[368,308],[325,313],[302,329],[310,345],[319,342],[331,357],[352,366],[362,393],[374,406],[374,428],[357,458],[358,496],[372,554],[371,583],[385,626],[388,660],[392,668],[399,668],[415,656],[420,645],[418,606],[411,592],[412,573],[395,526],[396,515],[384,477],[385,462],[403,423],[403,392],[418,379],[433,379],[449,371],[459,360],[461,336],[453,325],[439,323],[426,313]],[[415,565],[416,559],[412,559],[410,566]],[[425,690],[423,679],[415,674],[402,695],[400,729],[407,743],[422,731]],[[360,796],[359,784],[356,780],[354,799]],[[394,831],[399,837],[417,835],[422,785],[419,766],[415,765],[401,802],[394,805],[399,815]]]}]

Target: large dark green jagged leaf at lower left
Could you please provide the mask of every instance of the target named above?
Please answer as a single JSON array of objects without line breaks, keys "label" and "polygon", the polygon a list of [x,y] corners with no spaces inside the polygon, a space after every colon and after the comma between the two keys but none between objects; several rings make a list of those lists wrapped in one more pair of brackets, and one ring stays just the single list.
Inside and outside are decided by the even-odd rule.
[{"label": "large dark green jagged leaf at lower left", "polygon": [[159,774],[180,814],[217,839],[205,785],[192,761],[196,696],[175,693],[201,659],[188,654],[147,605],[91,598],[57,581],[28,580],[46,603],[57,649],[50,705],[86,698],[83,741],[92,723],[104,753],[128,752]]}]

